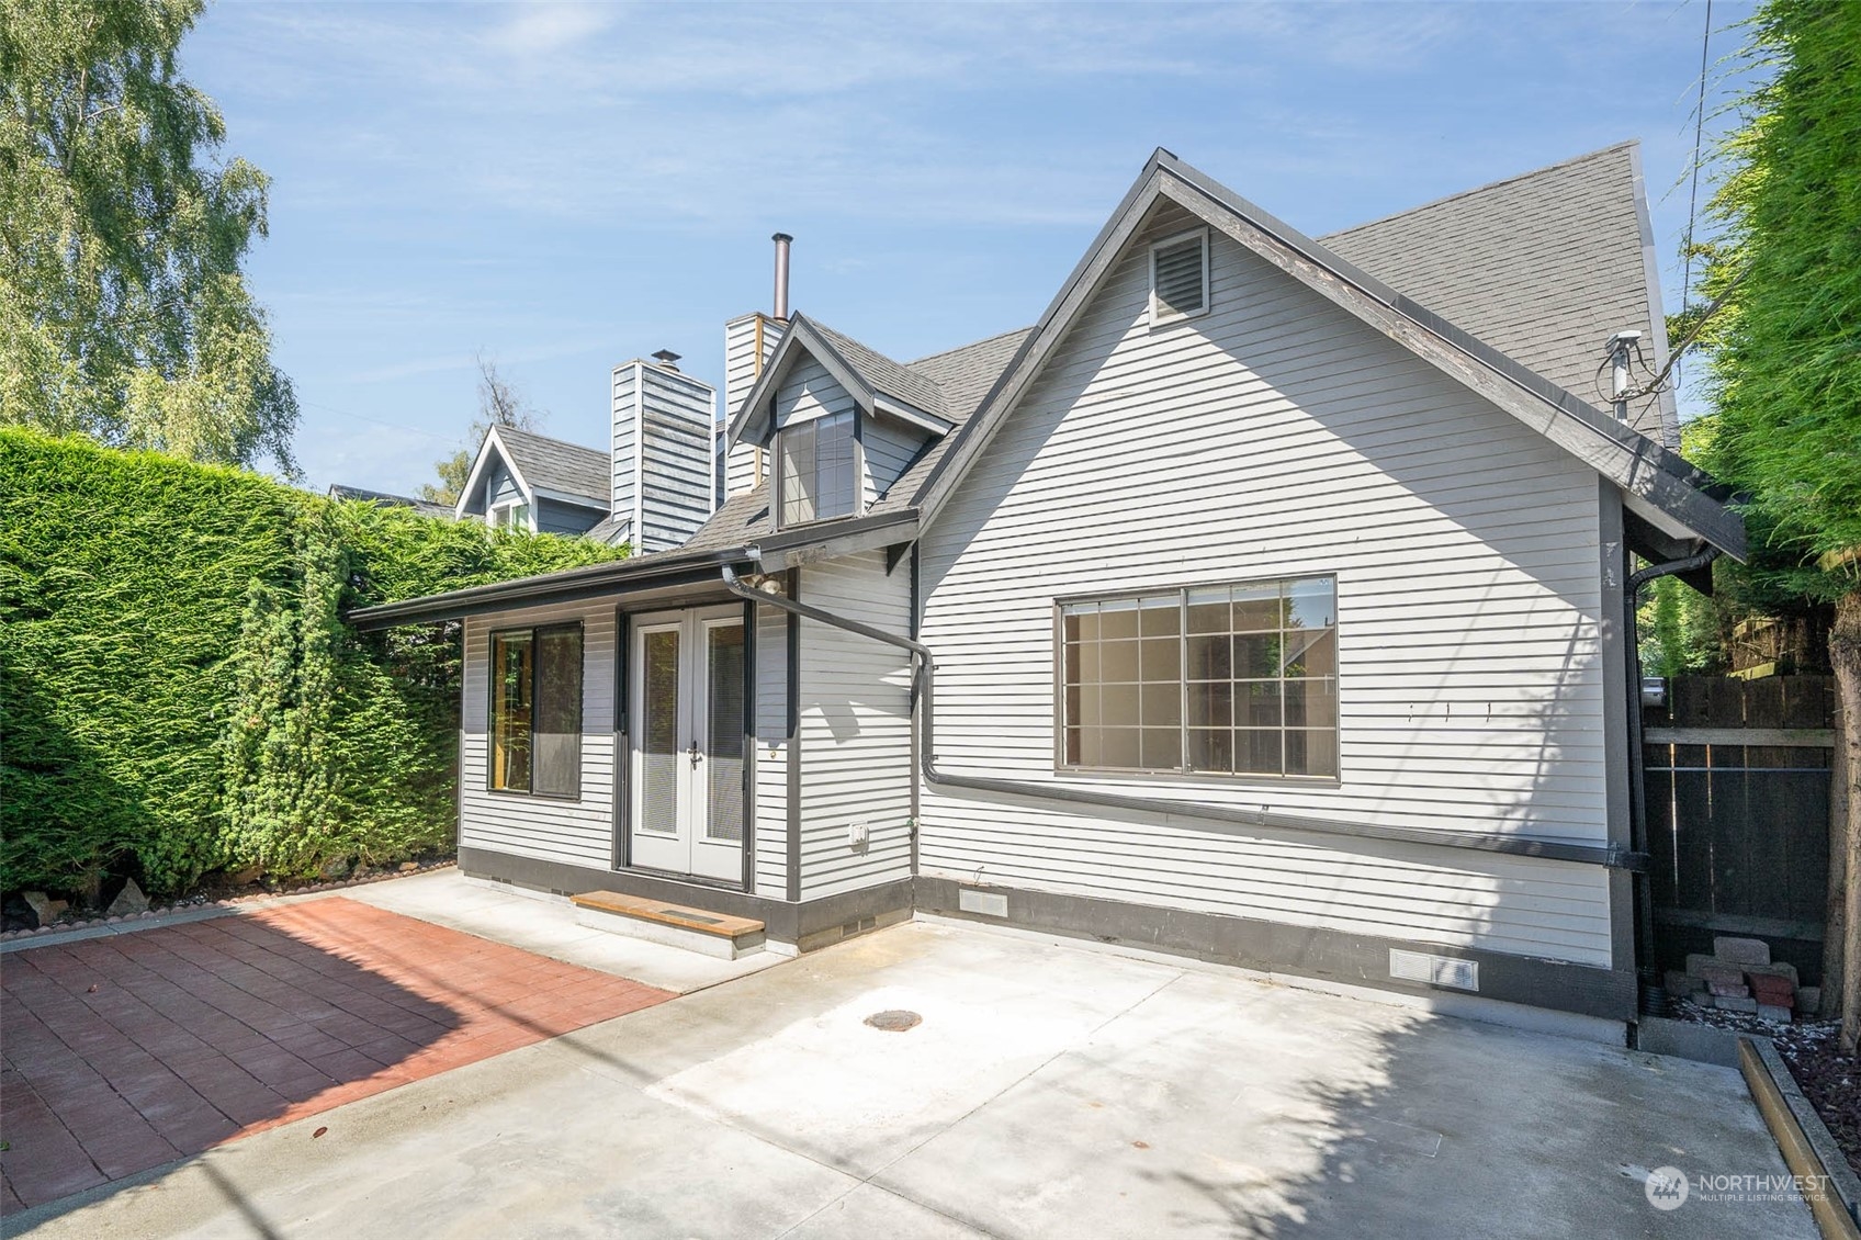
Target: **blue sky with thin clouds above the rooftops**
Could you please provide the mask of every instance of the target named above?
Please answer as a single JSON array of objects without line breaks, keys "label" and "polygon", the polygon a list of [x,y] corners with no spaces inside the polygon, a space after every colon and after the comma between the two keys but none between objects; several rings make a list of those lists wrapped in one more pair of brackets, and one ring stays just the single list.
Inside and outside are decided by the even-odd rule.
[{"label": "blue sky with thin clouds above the rooftops", "polygon": [[[1749,4],[1718,0],[1712,58]],[[793,305],[899,359],[1033,322],[1163,145],[1327,233],[1643,142],[1669,309],[1705,7],[216,4],[182,65],[274,177],[251,263],[305,482],[409,492],[473,354],[607,441],[609,369]],[[1708,114],[1727,88],[1708,73]],[[1712,125],[1708,125],[1708,138]]]}]

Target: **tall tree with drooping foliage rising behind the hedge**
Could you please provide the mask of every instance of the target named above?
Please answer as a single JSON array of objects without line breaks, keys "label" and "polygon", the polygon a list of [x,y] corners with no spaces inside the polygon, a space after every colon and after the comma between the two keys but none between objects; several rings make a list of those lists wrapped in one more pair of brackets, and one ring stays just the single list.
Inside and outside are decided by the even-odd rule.
[{"label": "tall tree with drooping foliage rising behind the hedge", "polygon": [[175,69],[201,0],[0,0],[0,423],[296,471],[240,274],[264,173]]}]

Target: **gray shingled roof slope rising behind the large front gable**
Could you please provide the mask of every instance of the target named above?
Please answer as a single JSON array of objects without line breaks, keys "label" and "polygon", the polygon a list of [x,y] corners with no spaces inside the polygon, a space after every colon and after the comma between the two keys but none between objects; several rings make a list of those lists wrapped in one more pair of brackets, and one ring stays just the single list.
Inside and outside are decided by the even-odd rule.
[{"label": "gray shingled roof slope rising behind the large front gable", "polygon": [[[1641,331],[1653,371],[1667,361],[1656,313],[1653,225],[1632,142],[1453,194],[1319,242],[1558,387],[1597,393],[1602,344]],[[1673,393],[1630,410],[1673,449]]]}]

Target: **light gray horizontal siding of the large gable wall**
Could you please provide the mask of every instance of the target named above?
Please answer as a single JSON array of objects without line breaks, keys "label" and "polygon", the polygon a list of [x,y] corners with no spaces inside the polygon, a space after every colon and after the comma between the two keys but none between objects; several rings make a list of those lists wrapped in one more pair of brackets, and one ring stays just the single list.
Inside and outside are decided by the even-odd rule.
[{"label": "light gray horizontal siding of the large gable wall", "polygon": [[[1172,209],[1171,209],[1172,210]],[[1597,486],[1219,233],[1210,313],[1107,274],[923,540],[955,771],[1606,840]],[[1342,778],[1053,775],[1053,600],[1336,575]],[[925,789],[927,873],[1610,963],[1597,869]]]}]

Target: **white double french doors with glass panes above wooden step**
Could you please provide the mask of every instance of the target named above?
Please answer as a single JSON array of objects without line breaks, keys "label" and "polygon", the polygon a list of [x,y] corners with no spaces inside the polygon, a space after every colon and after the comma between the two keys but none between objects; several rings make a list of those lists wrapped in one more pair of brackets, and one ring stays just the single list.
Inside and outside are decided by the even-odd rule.
[{"label": "white double french doors with glass panes above wooden step", "polygon": [[743,881],[743,609],[635,616],[633,864]]}]

